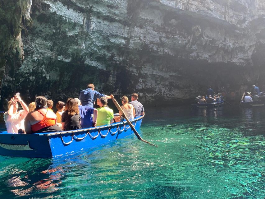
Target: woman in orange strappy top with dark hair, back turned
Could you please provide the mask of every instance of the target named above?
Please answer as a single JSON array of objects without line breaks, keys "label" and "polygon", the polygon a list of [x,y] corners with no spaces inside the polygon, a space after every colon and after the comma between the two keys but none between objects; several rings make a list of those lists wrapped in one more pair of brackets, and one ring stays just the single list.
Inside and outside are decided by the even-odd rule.
[{"label": "woman in orange strappy top with dark hair, back turned", "polygon": [[27,134],[62,131],[62,129],[56,125],[56,115],[52,111],[46,109],[47,99],[45,97],[36,97],[35,105],[35,110],[28,113],[25,118],[24,124]]}]

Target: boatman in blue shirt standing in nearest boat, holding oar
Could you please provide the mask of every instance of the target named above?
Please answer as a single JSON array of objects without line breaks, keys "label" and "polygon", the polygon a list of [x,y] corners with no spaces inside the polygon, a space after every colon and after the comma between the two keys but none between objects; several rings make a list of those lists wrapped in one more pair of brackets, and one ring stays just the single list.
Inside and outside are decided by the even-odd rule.
[{"label": "boatman in blue shirt standing in nearest boat, holding oar", "polygon": [[87,89],[82,90],[79,95],[82,106],[93,107],[97,98],[106,97],[107,99],[113,98],[113,95],[104,95],[94,90],[94,84],[87,85]]}]

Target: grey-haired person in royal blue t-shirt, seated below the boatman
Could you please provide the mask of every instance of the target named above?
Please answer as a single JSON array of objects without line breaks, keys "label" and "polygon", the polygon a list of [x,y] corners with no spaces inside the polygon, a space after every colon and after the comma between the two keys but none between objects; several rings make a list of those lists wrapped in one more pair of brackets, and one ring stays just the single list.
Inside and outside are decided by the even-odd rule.
[{"label": "grey-haired person in royal blue t-shirt, seated below the boatman", "polygon": [[[75,98],[75,101],[78,103],[79,114],[81,116],[81,127],[95,127],[97,124],[98,110],[94,109],[93,107],[82,106],[81,101],[78,98]],[[93,118],[91,114],[94,115]]]}]

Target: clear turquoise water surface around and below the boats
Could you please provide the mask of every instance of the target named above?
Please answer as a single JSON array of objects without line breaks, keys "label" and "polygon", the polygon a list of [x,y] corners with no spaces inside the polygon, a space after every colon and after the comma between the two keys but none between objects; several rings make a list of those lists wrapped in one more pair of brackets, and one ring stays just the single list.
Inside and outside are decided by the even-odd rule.
[{"label": "clear turquoise water surface around and below the boats", "polygon": [[135,136],[56,159],[0,156],[0,198],[264,198],[265,109],[146,109]]}]

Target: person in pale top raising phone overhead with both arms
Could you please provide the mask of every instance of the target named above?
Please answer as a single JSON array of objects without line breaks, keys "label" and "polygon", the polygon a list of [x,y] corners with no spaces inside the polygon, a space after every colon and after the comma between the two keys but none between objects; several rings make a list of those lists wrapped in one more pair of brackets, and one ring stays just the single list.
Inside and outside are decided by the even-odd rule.
[{"label": "person in pale top raising phone overhead with both arms", "polygon": [[[17,112],[19,102],[23,108]],[[29,112],[29,108],[20,96],[14,96],[7,104],[8,111],[4,113],[8,133],[17,133],[18,129],[24,129],[24,118]]]}]

